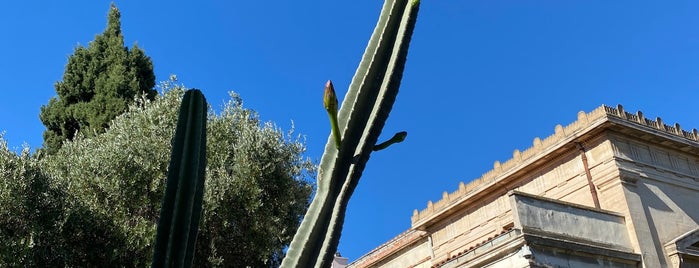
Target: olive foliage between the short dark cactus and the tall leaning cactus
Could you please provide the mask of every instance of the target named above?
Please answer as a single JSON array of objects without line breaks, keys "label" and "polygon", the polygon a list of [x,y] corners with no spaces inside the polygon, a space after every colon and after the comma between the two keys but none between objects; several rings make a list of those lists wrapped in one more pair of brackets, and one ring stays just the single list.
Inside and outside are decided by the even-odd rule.
[{"label": "olive foliage between the short dark cactus and the tall leaning cactus", "polygon": [[303,143],[282,142],[293,140],[291,133],[285,137],[271,123],[257,127],[257,114],[231,97],[208,125],[205,217],[195,264],[207,256],[212,266],[278,266],[309,205],[312,186],[300,178],[312,176],[315,167],[300,157]]}]

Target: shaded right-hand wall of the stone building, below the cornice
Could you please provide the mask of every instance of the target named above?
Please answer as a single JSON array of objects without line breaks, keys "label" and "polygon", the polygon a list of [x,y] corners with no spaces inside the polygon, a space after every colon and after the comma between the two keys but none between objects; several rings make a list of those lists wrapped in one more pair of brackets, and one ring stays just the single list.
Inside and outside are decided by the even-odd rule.
[{"label": "shaded right-hand wall of the stone building, below the cornice", "polygon": [[612,141],[636,250],[646,267],[670,267],[664,245],[699,226],[699,158],[633,137]]}]

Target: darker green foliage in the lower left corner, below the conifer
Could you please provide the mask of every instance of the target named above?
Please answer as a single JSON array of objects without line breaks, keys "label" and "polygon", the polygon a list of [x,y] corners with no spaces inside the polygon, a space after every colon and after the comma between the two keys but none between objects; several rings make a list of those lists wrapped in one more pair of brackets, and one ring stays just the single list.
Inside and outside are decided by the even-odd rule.
[{"label": "darker green foliage in the lower left corner, below the conifer", "polygon": [[110,218],[58,187],[28,148],[16,155],[0,141],[0,179],[0,267],[104,266],[128,260],[115,250],[125,238]]}]

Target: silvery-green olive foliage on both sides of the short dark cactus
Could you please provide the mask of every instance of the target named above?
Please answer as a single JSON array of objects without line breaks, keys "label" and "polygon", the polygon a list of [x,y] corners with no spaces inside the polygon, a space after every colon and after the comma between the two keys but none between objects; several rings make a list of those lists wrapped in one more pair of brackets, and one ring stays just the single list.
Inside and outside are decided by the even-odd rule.
[{"label": "silvery-green olive foliage on both sides of the short dark cactus", "polygon": [[[0,146],[0,186],[13,189],[0,189],[0,213],[4,213],[0,215],[0,266],[27,263],[12,259],[14,253],[10,253],[33,254],[29,245],[32,239],[34,244],[38,240],[31,235],[36,233],[32,228],[47,230],[51,235],[46,239],[55,237],[46,249],[55,251],[51,252],[55,257],[46,264],[150,264],[184,93],[173,82],[164,83],[163,88],[154,100],[139,98],[105,133],[79,135],[55,154],[17,156]],[[195,266],[274,266],[309,204],[315,166],[303,157],[305,143],[292,131],[284,133],[261,122],[233,93],[219,113],[209,113],[207,128],[206,192]],[[32,168],[28,175],[22,175],[24,166]],[[35,211],[24,207],[32,205],[23,196],[28,186],[8,179],[22,176],[45,181],[41,196],[56,200],[46,201],[48,208],[39,209],[59,212],[55,217],[50,214],[45,221],[48,226],[13,229],[11,221]]]}]

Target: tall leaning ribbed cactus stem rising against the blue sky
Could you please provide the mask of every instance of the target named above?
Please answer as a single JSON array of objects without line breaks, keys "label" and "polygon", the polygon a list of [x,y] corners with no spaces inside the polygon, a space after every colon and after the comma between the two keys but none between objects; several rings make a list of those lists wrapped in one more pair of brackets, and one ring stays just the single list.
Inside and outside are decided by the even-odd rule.
[{"label": "tall leaning ribbed cactus stem rising against the blue sky", "polygon": [[[282,267],[329,267],[340,241],[347,202],[375,149],[403,75],[419,0],[386,0],[339,111],[340,146],[331,135],[318,190]],[[404,133],[399,133],[404,138]],[[401,139],[402,140],[402,139]]]}]

